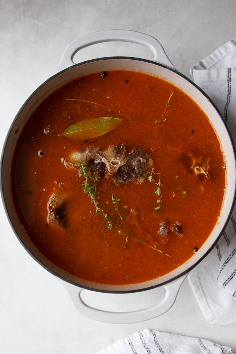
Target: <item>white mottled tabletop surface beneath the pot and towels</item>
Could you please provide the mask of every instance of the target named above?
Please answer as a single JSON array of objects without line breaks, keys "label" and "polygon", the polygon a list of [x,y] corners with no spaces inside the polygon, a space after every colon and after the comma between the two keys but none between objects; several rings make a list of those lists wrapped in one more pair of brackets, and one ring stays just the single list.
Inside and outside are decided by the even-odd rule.
[{"label": "white mottled tabletop surface beneath the pot and towels", "polygon": [[[52,75],[67,44],[102,29],[131,29],[157,38],[174,66],[189,69],[235,37],[234,0],[2,0],[0,2],[0,144],[25,99]],[[98,45],[77,58],[109,55]],[[128,51],[129,46],[119,45]],[[140,56],[150,57],[143,47]],[[136,49],[134,50],[136,53]],[[133,55],[132,49],[132,55]],[[127,52],[127,55],[130,55]],[[137,50],[138,55],[138,50]],[[23,249],[0,213],[0,352],[95,354],[137,330],[151,329],[201,337],[229,346],[236,353],[236,326],[209,325],[186,279],[174,306],[150,321],[110,325],[79,315],[63,283]],[[157,290],[156,290],[157,291]],[[113,296],[90,295],[113,308]],[[154,301],[155,291],[138,293],[135,302]],[[127,301],[132,301],[130,296]],[[90,333],[92,336],[90,337]]]}]

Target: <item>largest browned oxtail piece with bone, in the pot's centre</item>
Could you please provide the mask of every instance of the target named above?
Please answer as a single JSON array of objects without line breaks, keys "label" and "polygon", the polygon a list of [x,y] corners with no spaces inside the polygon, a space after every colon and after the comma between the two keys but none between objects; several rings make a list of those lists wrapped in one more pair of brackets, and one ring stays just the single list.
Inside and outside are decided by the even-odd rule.
[{"label": "largest browned oxtail piece with bone, in the pot's centre", "polygon": [[80,169],[78,161],[87,163],[91,172],[99,177],[113,179],[116,183],[139,182],[146,179],[149,166],[152,165],[150,155],[136,147],[127,152],[126,144],[110,145],[105,151],[88,147],[86,150],[72,153],[65,166]]}]

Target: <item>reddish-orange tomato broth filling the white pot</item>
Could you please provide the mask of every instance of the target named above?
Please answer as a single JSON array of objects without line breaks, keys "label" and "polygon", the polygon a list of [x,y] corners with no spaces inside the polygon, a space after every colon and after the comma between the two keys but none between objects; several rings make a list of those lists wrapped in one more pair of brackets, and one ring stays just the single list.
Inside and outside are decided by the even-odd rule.
[{"label": "reddish-orange tomato broth filling the white pot", "polygon": [[[81,141],[62,135],[79,120],[107,115],[123,121],[103,136]],[[46,127],[50,132],[45,133]],[[83,191],[84,178],[65,168],[61,159],[88,146],[106,150],[122,142],[128,151],[140,146],[150,154],[155,173],[160,173],[153,177],[158,182],[160,176],[161,195],[155,194],[155,182],[148,180],[114,184],[100,178],[99,202],[114,224],[109,229]],[[211,178],[192,173],[188,154],[209,158]],[[148,74],[111,71],[104,78],[96,73],[74,80],[41,103],[19,137],[12,189],[23,227],[53,263],[88,281],[134,284],[171,272],[202,246],[220,214],[223,166],[214,129],[187,95]],[[67,197],[65,229],[47,220],[48,200],[58,191]],[[112,195],[121,199],[119,212],[125,221],[120,220]],[[155,210],[159,198],[161,209]],[[138,212],[134,218],[131,209]],[[184,235],[160,237],[158,225],[163,219],[180,222]]]}]

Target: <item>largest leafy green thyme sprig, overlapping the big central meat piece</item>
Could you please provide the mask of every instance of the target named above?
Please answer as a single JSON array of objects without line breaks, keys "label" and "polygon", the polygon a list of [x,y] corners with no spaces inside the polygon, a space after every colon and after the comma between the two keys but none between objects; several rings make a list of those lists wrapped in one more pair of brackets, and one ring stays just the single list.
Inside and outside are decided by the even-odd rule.
[{"label": "largest leafy green thyme sprig, overlapping the big central meat piece", "polygon": [[80,176],[84,177],[85,180],[83,182],[84,185],[84,192],[88,194],[91,198],[91,203],[93,203],[96,206],[96,214],[102,213],[104,218],[108,221],[108,228],[112,228],[112,223],[110,222],[110,217],[107,215],[104,209],[101,208],[98,198],[99,198],[99,192],[96,191],[96,182],[99,181],[98,176],[94,173],[94,176],[90,176],[87,170],[87,164],[83,160],[79,160],[78,163],[81,166],[81,169],[79,171]]}]

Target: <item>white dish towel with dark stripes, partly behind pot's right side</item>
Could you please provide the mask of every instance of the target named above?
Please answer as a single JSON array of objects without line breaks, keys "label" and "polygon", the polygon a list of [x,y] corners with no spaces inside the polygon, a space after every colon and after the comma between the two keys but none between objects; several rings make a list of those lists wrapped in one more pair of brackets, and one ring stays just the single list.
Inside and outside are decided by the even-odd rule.
[{"label": "white dish towel with dark stripes, partly behind pot's right side", "polygon": [[[236,144],[236,38],[194,65],[190,73],[220,110]],[[236,206],[217,245],[188,278],[208,322],[236,324]]]}]

